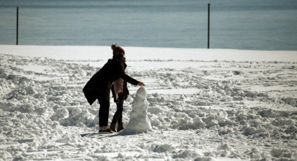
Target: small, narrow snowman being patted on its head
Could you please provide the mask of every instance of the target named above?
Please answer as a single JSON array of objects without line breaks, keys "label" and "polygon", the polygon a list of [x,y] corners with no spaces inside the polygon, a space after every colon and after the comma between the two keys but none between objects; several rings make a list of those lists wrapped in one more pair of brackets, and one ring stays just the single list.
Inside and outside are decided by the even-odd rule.
[{"label": "small, narrow snowman being patted on its head", "polygon": [[148,101],[146,100],[147,91],[140,87],[136,92],[136,98],[132,103],[130,120],[123,133],[139,134],[151,130],[151,122],[147,115]]}]

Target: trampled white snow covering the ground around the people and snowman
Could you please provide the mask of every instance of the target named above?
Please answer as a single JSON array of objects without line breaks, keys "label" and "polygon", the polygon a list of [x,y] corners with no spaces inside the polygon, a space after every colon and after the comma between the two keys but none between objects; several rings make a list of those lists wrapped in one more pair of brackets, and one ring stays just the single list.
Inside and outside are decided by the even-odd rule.
[{"label": "trampled white snow covering the ground around the people and snowman", "polygon": [[110,47],[0,45],[0,160],[297,160],[296,51],[124,49],[151,123],[134,135],[97,134],[82,93]]}]

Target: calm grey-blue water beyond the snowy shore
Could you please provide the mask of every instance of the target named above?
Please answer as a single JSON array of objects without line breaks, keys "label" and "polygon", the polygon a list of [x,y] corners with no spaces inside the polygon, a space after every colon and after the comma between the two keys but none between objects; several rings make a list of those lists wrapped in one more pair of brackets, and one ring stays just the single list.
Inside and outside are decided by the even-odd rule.
[{"label": "calm grey-blue water beyond the snowy shore", "polygon": [[296,0],[0,0],[0,44],[297,50]]}]

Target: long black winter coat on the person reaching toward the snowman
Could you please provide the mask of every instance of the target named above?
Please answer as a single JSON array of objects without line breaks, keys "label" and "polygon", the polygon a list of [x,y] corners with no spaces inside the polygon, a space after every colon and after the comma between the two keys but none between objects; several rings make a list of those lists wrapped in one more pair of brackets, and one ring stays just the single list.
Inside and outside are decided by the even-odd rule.
[{"label": "long black winter coat on the person reaching toward the snowman", "polygon": [[83,93],[90,105],[98,97],[105,97],[109,100],[110,88],[114,81],[119,78],[132,85],[137,85],[138,81],[125,73],[126,63],[118,59],[109,59],[108,62],[94,74],[83,88]]}]

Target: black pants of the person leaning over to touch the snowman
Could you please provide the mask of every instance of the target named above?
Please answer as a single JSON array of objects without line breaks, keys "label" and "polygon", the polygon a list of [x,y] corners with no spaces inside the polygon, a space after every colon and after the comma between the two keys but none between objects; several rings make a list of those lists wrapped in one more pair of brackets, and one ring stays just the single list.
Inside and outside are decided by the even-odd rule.
[{"label": "black pants of the person leaning over to touch the snowman", "polygon": [[98,101],[100,104],[99,109],[99,126],[108,126],[108,116],[109,116],[109,95],[98,96]]}]

